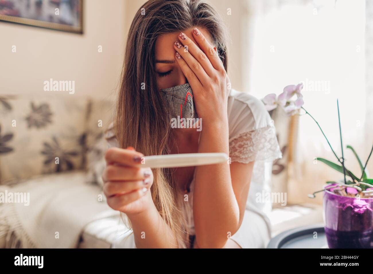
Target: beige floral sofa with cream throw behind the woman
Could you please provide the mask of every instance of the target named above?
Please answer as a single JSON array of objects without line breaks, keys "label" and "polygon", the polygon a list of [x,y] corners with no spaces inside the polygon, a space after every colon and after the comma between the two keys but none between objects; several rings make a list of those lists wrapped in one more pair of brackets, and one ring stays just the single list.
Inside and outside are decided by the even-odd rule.
[{"label": "beige floral sofa with cream throw behind the woman", "polygon": [[[0,199],[1,248],[110,248],[130,233],[100,182],[113,105],[75,95],[0,96],[0,192],[30,197],[28,207]],[[82,200],[87,193],[100,201]],[[65,236],[56,242],[43,233]]]}]

